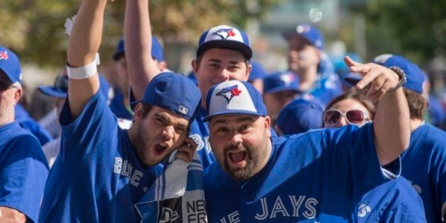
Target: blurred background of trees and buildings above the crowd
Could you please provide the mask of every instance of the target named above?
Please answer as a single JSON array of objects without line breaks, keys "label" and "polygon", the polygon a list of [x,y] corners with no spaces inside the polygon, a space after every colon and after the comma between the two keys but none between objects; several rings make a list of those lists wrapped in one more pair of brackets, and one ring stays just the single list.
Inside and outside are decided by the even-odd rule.
[{"label": "blurred background of trees and buildings above the crowd", "polygon": [[[63,71],[68,40],[64,23],[80,4],[0,1],[0,45],[21,58],[25,101],[33,101],[35,87],[52,85]],[[110,2],[105,18],[100,71],[112,85],[112,55],[123,35],[124,11],[125,1]],[[345,69],[341,59],[347,54],[363,62],[382,53],[404,55],[427,72],[432,93],[446,105],[444,0],[153,0],[150,13],[153,33],[164,45],[168,68],[175,72],[190,72],[200,34],[223,23],[246,30],[253,59],[268,72],[287,69],[282,31],[311,23],[324,33],[326,52],[337,69]]]}]

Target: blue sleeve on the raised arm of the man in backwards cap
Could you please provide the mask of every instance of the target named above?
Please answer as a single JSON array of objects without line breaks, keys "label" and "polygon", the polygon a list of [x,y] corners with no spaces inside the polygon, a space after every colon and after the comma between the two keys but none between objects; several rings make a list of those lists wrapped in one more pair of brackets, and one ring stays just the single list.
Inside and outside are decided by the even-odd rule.
[{"label": "blue sleeve on the raised arm of the man in backwards cap", "polygon": [[59,159],[62,158],[64,163],[91,159],[86,155],[91,154],[93,149],[109,149],[98,147],[98,144],[118,132],[118,120],[108,107],[101,91],[90,98],[81,115],[74,120],[67,99],[59,122],[62,125]]}]

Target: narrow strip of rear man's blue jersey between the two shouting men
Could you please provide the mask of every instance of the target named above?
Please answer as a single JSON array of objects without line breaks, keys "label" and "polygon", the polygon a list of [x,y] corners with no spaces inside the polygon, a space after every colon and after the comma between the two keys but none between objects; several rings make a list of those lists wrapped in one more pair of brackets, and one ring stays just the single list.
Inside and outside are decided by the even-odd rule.
[{"label": "narrow strip of rear man's blue jersey between the two shouting men", "polygon": [[209,144],[209,125],[207,122],[203,121],[206,117],[206,110],[200,108],[195,120],[193,120],[190,125],[190,135],[195,143],[197,144],[198,155],[201,159],[201,164],[203,168],[206,168],[213,162],[215,162],[215,156],[212,154],[212,150]]}]

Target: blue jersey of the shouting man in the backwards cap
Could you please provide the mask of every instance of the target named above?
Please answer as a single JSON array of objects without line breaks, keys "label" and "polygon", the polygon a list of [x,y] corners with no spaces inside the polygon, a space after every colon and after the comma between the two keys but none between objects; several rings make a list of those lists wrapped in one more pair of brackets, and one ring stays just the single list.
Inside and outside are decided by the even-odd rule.
[{"label": "blue jersey of the shouting man in the backwards cap", "polygon": [[144,166],[98,91],[72,120],[60,115],[62,143],[48,177],[40,222],[138,222],[135,203],[161,173]]}]

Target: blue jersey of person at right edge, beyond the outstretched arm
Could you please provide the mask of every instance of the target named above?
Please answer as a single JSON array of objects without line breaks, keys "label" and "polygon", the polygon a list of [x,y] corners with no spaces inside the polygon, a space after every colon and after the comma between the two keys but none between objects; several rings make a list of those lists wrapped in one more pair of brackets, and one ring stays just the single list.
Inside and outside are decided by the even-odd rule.
[{"label": "blue jersey of person at right edge, beyond the outstretched arm", "polygon": [[401,164],[401,175],[423,199],[428,222],[441,222],[446,214],[446,132],[430,124],[418,127]]}]

